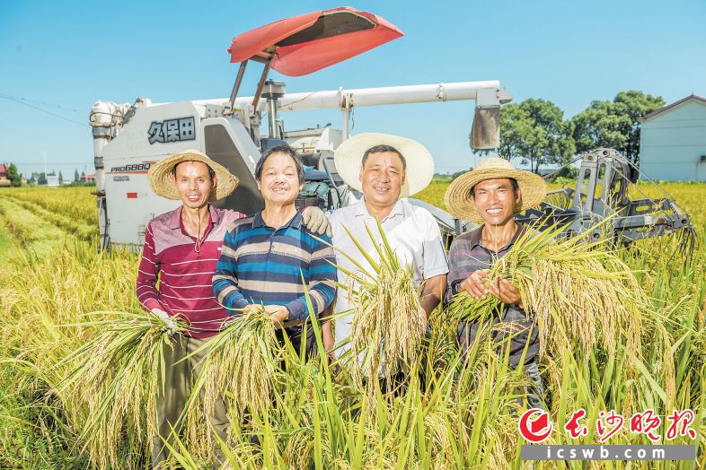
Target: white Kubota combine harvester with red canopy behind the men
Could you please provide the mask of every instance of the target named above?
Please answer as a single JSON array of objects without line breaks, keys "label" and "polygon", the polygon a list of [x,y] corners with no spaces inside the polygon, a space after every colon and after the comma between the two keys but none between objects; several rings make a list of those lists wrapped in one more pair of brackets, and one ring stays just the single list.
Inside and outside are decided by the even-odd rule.
[{"label": "white Kubota combine harvester with red canopy behind the men", "polygon": [[[216,206],[242,213],[254,213],[262,207],[254,178],[255,163],[262,152],[279,144],[296,148],[311,167],[297,198],[299,207],[318,205],[332,210],[356,201],[359,194],[342,182],[333,164],[333,151],[349,137],[350,114],[356,107],[475,100],[471,147],[497,148],[500,106],[512,100],[497,80],[357,90],[340,87],[303,93],[287,93],[285,83],[268,80],[270,68],[288,76],[311,74],[400,37],[401,30],[373,13],[349,7],[307,13],[233,39],[228,52],[231,62],[240,67],[229,98],[160,104],[140,98],[134,104],[96,102],[90,125],[101,248],[138,249],[147,222],[180,204],[154,196],[146,173],[156,161],[188,148],[206,152],[240,179],[234,193]],[[260,81],[253,96],[241,97],[245,68],[253,61],[264,65]],[[304,109],[340,109],[341,128],[285,130],[279,113]],[[265,114],[268,134],[261,135]],[[624,159],[614,151],[593,152],[584,157],[576,191],[566,189],[553,198],[570,203],[545,204],[523,217],[547,221],[561,217],[569,222],[567,231],[581,232],[597,217],[617,212],[620,216],[613,222],[615,239],[637,239],[689,226],[688,216],[671,198],[637,203],[627,199],[628,170]],[[596,193],[596,185],[602,185],[603,192]],[[454,220],[437,207],[413,198],[410,202],[428,208],[448,240],[468,228],[465,222]],[[656,211],[659,216],[650,218],[649,213]]]}]

